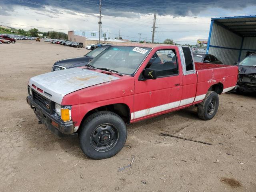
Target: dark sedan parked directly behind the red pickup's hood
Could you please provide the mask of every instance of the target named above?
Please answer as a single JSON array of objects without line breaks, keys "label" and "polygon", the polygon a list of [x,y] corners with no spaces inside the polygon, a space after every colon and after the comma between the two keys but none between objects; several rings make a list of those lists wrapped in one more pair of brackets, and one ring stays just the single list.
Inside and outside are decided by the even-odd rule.
[{"label": "dark sedan parked directly behind the red pickup's hood", "polygon": [[109,46],[110,45],[104,45],[99,48],[96,48],[96,49],[88,52],[86,55],[84,55],[82,57],[68,58],[68,59],[63,59],[63,60],[57,61],[52,66],[52,71],[59,71],[59,70],[63,70],[63,69],[85,66],[91,60],[93,60],[94,57],[96,57],[98,54],[100,54],[102,51],[104,51]]}]

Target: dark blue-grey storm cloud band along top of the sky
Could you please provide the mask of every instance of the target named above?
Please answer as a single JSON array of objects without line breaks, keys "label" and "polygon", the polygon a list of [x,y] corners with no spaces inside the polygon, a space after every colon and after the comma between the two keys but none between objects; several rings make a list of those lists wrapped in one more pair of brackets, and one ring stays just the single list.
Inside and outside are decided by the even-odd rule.
[{"label": "dark blue-grey storm cloud band along top of the sky", "polygon": [[[84,14],[98,13],[98,0],[0,0],[0,14],[10,14],[8,10],[3,10],[4,6],[25,6],[29,8],[46,9],[46,6],[52,6],[54,9],[47,12],[58,14],[58,8],[69,10],[70,14],[80,12]],[[160,16],[196,16],[207,8],[222,8],[225,10],[239,10],[247,6],[256,4],[256,0],[102,0],[102,11],[106,16],[121,16],[136,18],[137,14],[152,14],[155,11]],[[73,12],[70,12],[73,11]]]}]

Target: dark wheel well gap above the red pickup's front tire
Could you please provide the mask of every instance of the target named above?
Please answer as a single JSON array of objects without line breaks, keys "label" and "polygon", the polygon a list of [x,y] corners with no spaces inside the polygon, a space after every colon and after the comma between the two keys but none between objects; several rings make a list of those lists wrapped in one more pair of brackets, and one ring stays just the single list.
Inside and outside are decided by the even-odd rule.
[{"label": "dark wheel well gap above the red pickup's front tire", "polygon": [[117,104],[111,104],[111,105],[106,105],[106,106],[101,106],[98,108],[95,108],[93,110],[90,110],[83,118],[81,124],[84,122],[84,120],[90,116],[91,114],[99,111],[111,111],[116,114],[118,114],[125,123],[129,124],[131,120],[131,113],[130,113],[130,108],[123,103],[117,103]]}]

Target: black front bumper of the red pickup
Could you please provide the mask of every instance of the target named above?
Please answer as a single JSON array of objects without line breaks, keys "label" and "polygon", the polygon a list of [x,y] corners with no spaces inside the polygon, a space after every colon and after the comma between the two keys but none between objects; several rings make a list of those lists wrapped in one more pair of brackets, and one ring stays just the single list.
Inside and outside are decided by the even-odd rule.
[{"label": "black front bumper of the red pickup", "polygon": [[[59,116],[51,114],[45,107],[42,107],[38,102],[33,100],[32,96],[27,96],[27,103],[34,110],[36,117],[56,136],[76,137],[78,135],[74,133],[73,121],[63,122]],[[54,126],[52,122],[55,122],[58,126]]]}]

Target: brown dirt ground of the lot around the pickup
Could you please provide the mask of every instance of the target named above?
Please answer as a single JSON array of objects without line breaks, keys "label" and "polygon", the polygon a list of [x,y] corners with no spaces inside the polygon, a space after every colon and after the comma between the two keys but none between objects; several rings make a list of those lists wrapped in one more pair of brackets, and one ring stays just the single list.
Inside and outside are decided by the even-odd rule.
[{"label": "brown dirt ground of the lot around the pickup", "polygon": [[[86,52],[35,40],[0,45],[0,191],[256,191],[256,96],[221,95],[209,121],[193,106],[131,124],[126,146],[104,160],[87,158],[77,138],[58,138],[38,124],[26,103],[29,78]],[[132,168],[118,172],[132,155]]]}]

